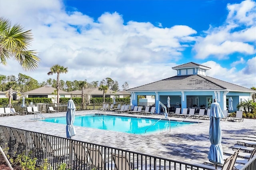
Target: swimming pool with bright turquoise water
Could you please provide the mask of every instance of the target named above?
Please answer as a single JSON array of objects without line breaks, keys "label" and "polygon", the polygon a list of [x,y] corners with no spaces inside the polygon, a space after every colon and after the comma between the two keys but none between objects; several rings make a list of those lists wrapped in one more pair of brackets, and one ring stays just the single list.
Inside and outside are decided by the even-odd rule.
[{"label": "swimming pool with bright turquoise water", "polygon": [[[42,121],[66,124],[66,117],[46,118]],[[171,129],[191,124],[194,123],[170,121]],[[168,120],[100,114],[76,116],[74,125],[132,134],[150,134],[167,131],[170,128]]]}]

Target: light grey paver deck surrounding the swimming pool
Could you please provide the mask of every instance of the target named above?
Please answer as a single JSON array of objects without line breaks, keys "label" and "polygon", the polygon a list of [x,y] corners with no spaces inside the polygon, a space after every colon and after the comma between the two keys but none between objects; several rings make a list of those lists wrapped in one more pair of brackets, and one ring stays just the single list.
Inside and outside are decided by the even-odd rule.
[{"label": "light grey paver deck surrounding the swimming pool", "polygon": [[[76,115],[99,113],[99,111],[76,111]],[[133,117],[163,118],[164,115],[131,115],[120,114],[112,111],[101,112],[109,115],[127,115]],[[44,117],[66,116],[66,112],[44,113]],[[182,118],[168,117],[171,120],[183,120]],[[44,121],[33,121],[34,115],[16,115],[0,117],[0,125],[52,134],[66,137],[66,125],[48,123]],[[198,119],[186,119],[198,122]],[[203,163],[207,160],[210,141],[208,139],[209,120],[201,120],[198,124],[184,127],[172,128],[171,131],[158,132],[155,134],[137,135],[123,132],[113,132],[94,128],[78,127],[75,140],[103,144],[106,146],[141,152],[154,156],[169,158],[190,163]],[[256,134],[256,119],[244,119],[243,122],[221,121],[222,126],[222,148],[230,149],[237,139],[242,136]]]}]

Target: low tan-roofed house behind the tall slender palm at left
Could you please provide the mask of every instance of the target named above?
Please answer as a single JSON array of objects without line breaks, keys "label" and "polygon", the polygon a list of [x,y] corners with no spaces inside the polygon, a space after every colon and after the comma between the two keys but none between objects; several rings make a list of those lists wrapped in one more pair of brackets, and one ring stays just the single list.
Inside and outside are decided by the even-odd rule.
[{"label": "low tan-roofed house behind the tall slender palm at left", "polygon": [[[61,97],[70,97],[70,93],[60,90],[60,98]],[[31,91],[27,91],[25,93],[22,93],[22,96],[25,96],[26,98],[33,98],[33,97],[46,97],[46,98],[51,98],[52,103],[57,103],[57,91],[56,88],[54,87],[49,87],[49,86],[44,86],[40,87],[38,89],[34,89]]]}]

